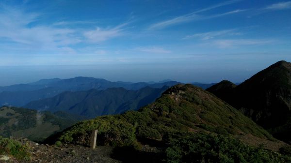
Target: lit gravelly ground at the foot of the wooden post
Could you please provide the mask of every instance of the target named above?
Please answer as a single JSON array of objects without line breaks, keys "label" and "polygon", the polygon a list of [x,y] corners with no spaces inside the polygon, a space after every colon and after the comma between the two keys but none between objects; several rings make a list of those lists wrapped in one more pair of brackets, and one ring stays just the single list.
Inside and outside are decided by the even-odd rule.
[{"label": "lit gravelly ground at the foot of the wooden post", "polygon": [[0,163],[121,163],[111,158],[113,148],[110,146],[91,149],[75,145],[55,147],[29,143],[32,147],[30,161],[17,161],[9,156],[0,156],[0,159],[3,158]]}]

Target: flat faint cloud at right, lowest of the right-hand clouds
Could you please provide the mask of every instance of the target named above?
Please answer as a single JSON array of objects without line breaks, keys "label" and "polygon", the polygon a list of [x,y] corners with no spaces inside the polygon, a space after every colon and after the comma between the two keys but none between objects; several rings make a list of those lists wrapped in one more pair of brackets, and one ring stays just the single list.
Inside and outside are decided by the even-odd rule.
[{"label": "flat faint cloud at right, lowest of the right-hand clouds", "polygon": [[210,44],[217,46],[219,48],[234,48],[244,45],[261,45],[270,44],[274,42],[273,40],[263,40],[263,39],[222,39],[215,40]]}]

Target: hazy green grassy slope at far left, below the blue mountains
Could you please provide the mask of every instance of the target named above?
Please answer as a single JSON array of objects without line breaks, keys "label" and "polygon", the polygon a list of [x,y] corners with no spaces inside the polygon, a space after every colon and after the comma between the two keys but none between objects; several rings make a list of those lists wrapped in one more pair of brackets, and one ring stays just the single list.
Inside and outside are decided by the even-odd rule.
[{"label": "hazy green grassy slope at far left, below the blue mountains", "polygon": [[0,108],[0,135],[4,137],[27,137],[34,141],[46,139],[55,132],[60,132],[73,125],[79,116],[63,112],[38,112],[17,107]]}]

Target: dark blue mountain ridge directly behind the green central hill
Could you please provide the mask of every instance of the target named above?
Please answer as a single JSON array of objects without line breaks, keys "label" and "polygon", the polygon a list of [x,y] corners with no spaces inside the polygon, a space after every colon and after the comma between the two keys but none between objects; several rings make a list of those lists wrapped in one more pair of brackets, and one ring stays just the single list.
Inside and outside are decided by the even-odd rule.
[{"label": "dark blue mountain ridge directly behind the green central hill", "polygon": [[111,88],[64,92],[53,98],[33,101],[24,107],[51,112],[65,111],[95,118],[102,115],[120,114],[127,110],[137,110],[155,101],[167,88],[166,86],[161,89],[145,87],[139,90]]}]

